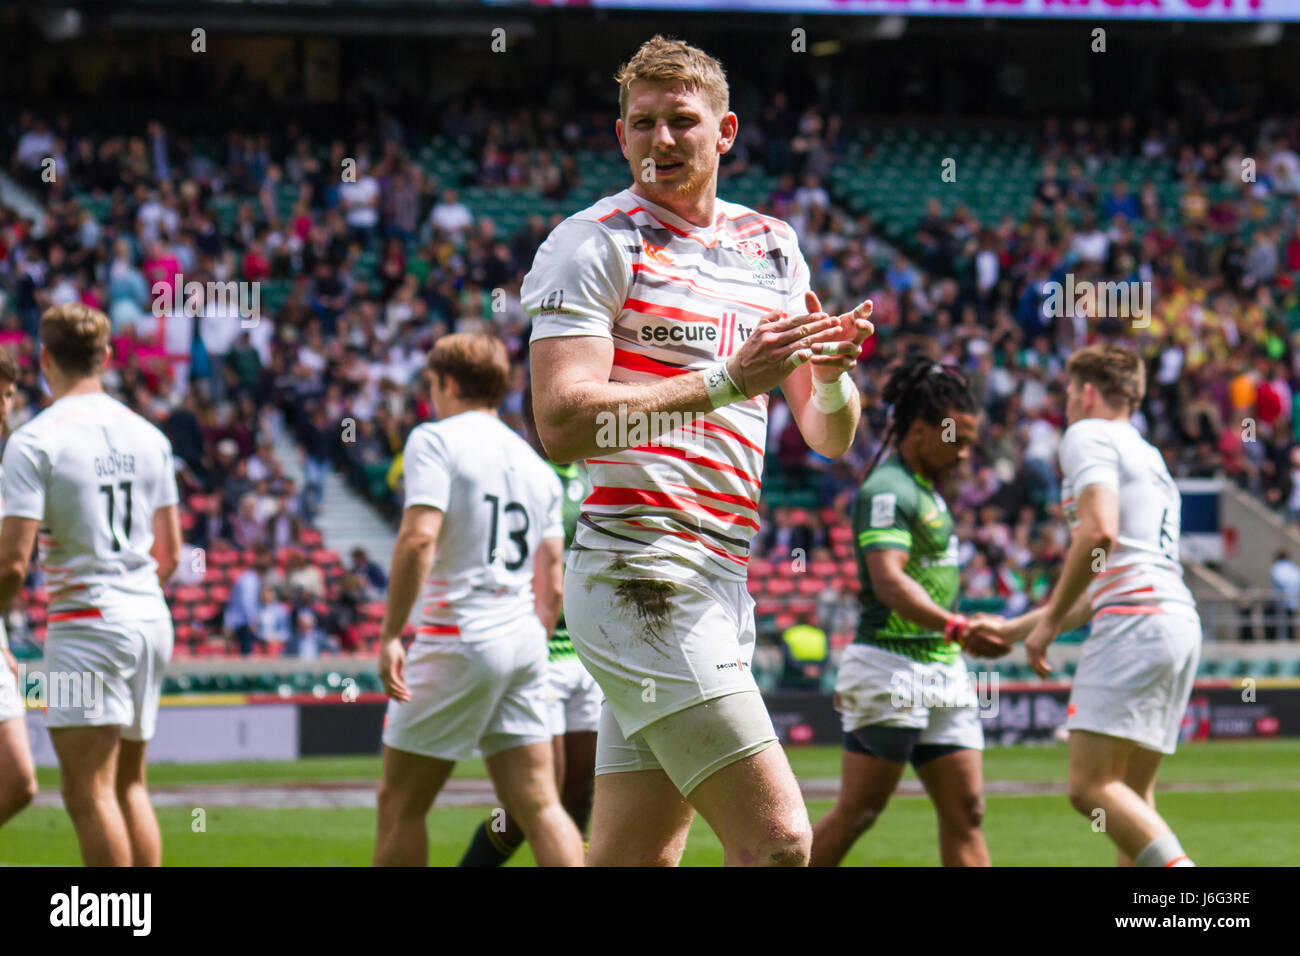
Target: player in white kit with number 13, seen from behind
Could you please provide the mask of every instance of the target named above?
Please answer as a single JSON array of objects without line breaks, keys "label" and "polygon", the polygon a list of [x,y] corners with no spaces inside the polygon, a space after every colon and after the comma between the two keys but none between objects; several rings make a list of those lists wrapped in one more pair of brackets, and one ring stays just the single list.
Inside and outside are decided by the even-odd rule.
[{"label": "player in white kit with number 13, seen from behind", "polygon": [[[560,804],[547,724],[560,481],[497,416],[510,377],[499,339],[443,336],[429,371],[439,418],[416,428],[403,451],[406,510],[380,637],[391,701],[374,864],[428,864],[429,808],[456,761],[481,752],[537,862],[581,866],[582,838]],[[416,600],[420,624],[407,652],[402,630]]]}]

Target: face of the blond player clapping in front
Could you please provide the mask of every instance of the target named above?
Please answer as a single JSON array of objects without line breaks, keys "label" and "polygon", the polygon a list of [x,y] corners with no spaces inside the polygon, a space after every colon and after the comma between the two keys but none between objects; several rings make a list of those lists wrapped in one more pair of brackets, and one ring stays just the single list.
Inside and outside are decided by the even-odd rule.
[{"label": "face of the blond player clapping in front", "polygon": [[719,116],[697,90],[637,81],[628,114],[615,124],[634,191],[673,208],[716,187],[718,157],[736,140],[734,113]]}]

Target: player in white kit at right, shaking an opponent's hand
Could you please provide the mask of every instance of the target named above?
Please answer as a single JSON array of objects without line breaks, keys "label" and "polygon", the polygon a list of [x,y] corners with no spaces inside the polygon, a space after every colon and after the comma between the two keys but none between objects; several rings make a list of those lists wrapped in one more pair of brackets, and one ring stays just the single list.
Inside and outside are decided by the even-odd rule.
[{"label": "player in white kit at right, shaking an opponent's hand", "polygon": [[1160,451],[1128,419],[1145,393],[1141,359],[1082,349],[1061,441],[1062,505],[1072,535],[1048,604],[998,626],[1048,676],[1057,635],[1092,620],[1070,692],[1070,803],[1096,819],[1121,865],[1190,866],[1156,813],[1156,773],[1173,753],[1200,658],[1201,624],[1178,557],[1180,497]]}]

